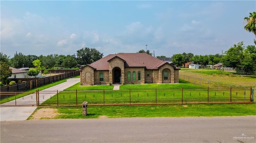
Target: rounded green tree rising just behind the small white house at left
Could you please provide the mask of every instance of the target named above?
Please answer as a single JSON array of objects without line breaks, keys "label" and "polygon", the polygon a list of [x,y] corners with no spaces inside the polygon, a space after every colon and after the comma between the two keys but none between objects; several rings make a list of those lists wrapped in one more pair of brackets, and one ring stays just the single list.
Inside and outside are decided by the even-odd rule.
[{"label": "rounded green tree rising just behind the small white house at left", "polygon": [[18,53],[17,52],[14,54],[14,57],[10,59],[10,65],[11,67],[14,68],[21,68],[23,67],[23,64],[26,63],[26,56],[23,55],[22,53]]}]

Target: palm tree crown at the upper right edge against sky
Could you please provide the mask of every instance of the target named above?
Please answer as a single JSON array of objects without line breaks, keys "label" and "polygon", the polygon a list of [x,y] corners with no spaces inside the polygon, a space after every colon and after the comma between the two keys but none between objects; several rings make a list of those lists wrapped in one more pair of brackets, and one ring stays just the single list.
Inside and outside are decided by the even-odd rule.
[{"label": "palm tree crown at the upper right edge against sky", "polygon": [[256,37],[256,12],[249,13],[249,17],[244,18],[244,22],[246,22],[246,25],[244,26],[244,29],[246,31],[254,33]]}]

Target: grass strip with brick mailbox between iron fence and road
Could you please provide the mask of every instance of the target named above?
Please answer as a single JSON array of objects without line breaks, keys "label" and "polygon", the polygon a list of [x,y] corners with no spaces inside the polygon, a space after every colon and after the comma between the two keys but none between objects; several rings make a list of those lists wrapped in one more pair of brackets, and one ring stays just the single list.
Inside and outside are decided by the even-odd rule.
[{"label": "grass strip with brick mailbox between iron fence and road", "polygon": [[[152,118],[152,117],[212,117],[256,115],[256,104],[186,104],[182,105],[144,105],[144,106],[88,106],[87,116],[82,116],[81,106],[52,107],[59,115],[52,119],[79,118]],[[42,107],[38,107],[40,109]],[[46,107],[43,107],[46,108]],[[33,115],[33,114],[32,114]],[[31,119],[30,116],[28,119]]]}]

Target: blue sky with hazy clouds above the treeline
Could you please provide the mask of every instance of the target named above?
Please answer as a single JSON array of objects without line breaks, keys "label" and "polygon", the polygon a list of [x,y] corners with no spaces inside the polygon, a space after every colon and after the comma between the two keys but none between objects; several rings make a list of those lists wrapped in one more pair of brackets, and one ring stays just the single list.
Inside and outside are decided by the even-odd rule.
[{"label": "blue sky with hazy clouds above the treeline", "polygon": [[244,17],[256,1],[0,1],[1,49],[13,57],[73,55],[83,47],[104,56],[150,50],[214,55],[255,35]]}]

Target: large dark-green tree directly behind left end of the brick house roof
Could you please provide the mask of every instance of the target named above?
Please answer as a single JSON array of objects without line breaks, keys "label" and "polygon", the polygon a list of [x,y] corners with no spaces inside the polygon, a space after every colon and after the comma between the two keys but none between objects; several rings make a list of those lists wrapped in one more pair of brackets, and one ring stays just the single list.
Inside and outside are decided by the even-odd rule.
[{"label": "large dark-green tree directly behind left end of the brick house roof", "polygon": [[96,50],[95,48],[90,49],[85,47],[77,50],[76,52],[76,58],[79,65],[91,64],[103,57],[103,53],[100,53],[100,51]]}]

